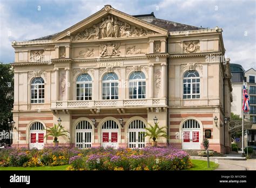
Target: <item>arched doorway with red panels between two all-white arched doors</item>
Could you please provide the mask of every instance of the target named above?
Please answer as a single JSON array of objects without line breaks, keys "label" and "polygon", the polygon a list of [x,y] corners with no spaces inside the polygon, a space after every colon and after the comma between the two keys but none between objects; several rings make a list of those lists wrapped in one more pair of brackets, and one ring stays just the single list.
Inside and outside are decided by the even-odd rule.
[{"label": "arched doorway with red panels between two all-white arched doors", "polygon": [[113,120],[107,120],[102,125],[102,146],[118,148],[118,124]]}]

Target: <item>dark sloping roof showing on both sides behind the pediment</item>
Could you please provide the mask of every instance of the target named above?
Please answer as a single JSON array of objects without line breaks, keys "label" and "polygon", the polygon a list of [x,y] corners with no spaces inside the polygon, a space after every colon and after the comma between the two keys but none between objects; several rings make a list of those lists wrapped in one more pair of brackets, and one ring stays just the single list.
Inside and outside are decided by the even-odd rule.
[{"label": "dark sloping roof showing on both sides behind the pediment", "polygon": [[[166,29],[170,32],[172,32],[172,31],[190,31],[190,30],[205,29],[203,27],[197,27],[197,26],[172,22],[172,21],[165,20],[165,19],[159,19],[159,18],[156,18],[154,16],[154,12],[151,12],[150,14],[146,14],[146,15],[134,15],[133,17],[136,17],[138,19],[142,19],[142,20],[144,20],[145,22],[147,22],[149,24],[156,25],[156,26],[161,27],[163,29]],[[40,38],[37,38],[37,39],[32,39],[30,41],[33,41],[33,40],[51,40],[57,34],[58,33],[50,34],[48,36],[40,37]]]}]

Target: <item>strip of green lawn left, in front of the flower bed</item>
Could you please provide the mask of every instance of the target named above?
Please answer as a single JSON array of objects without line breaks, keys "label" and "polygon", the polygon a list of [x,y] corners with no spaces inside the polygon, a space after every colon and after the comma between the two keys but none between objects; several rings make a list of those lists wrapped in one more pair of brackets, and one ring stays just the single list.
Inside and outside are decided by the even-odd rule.
[{"label": "strip of green lawn left, in front of the flower bed", "polygon": [[69,164],[61,166],[39,166],[39,167],[0,167],[0,170],[66,170]]}]

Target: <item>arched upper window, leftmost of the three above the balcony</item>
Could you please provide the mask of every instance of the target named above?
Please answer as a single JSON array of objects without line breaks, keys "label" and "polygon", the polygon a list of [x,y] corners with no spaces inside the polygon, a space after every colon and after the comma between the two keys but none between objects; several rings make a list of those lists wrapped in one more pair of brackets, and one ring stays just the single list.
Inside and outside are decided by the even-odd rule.
[{"label": "arched upper window, leftmost of the three above the balcony", "polygon": [[77,77],[77,100],[92,100],[92,78],[89,74]]}]

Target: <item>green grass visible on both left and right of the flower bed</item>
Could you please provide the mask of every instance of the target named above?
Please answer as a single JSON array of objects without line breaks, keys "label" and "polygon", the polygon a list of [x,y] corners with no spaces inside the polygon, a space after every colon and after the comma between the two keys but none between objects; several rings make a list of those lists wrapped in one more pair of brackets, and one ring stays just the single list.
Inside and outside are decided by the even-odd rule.
[{"label": "green grass visible on both left and right of the flower bed", "polygon": [[[218,168],[219,164],[210,162],[210,168],[207,167],[207,161],[191,159],[194,164],[193,168],[187,170],[215,170]],[[39,166],[39,167],[0,167],[1,170],[66,170],[69,164],[61,166]]]}]

